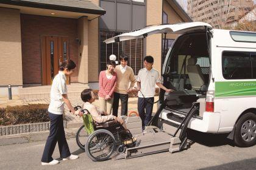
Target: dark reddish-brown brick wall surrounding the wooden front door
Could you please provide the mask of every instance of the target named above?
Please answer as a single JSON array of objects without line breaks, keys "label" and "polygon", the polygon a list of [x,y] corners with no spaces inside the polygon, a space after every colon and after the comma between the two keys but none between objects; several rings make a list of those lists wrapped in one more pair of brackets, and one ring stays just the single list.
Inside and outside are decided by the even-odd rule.
[{"label": "dark reddish-brown brick wall surrounding the wooden front door", "polygon": [[[23,84],[41,84],[40,35],[69,37],[70,59],[78,62],[77,19],[55,18],[37,15],[20,15]],[[71,76],[71,83],[77,82],[77,68]]]}]

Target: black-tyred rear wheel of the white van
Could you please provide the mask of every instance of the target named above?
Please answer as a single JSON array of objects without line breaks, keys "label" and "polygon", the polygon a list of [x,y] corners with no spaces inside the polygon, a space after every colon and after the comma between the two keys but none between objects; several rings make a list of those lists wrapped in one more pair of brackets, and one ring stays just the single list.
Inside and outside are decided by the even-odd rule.
[{"label": "black-tyred rear wheel of the white van", "polygon": [[235,144],[249,147],[256,144],[256,115],[249,112],[244,114],[236,123]]}]

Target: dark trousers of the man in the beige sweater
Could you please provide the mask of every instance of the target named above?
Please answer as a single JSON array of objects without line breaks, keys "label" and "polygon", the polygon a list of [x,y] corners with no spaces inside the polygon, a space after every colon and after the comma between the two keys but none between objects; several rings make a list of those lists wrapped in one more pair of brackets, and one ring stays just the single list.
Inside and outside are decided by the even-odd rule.
[{"label": "dark trousers of the man in the beige sweater", "polygon": [[113,115],[117,117],[118,115],[118,106],[119,99],[121,100],[121,115],[127,116],[128,110],[128,94],[118,94],[114,92],[114,101],[113,101]]}]

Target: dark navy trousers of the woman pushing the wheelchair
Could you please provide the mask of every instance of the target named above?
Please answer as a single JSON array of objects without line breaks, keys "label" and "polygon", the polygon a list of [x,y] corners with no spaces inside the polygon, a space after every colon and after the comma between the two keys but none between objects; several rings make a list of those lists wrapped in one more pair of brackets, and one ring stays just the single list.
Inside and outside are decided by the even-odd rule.
[{"label": "dark navy trousers of the woman pushing the wheelchair", "polygon": [[50,134],[46,141],[43,156],[41,158],[41,161],[43,162],[50,162],[53,160],[52,154],[54,152],[57,141],[59,145],[60,157],[66,158],[70,155],[63,127],[63,115],[51,114],[49,112],[49,118],[51,121]]}]

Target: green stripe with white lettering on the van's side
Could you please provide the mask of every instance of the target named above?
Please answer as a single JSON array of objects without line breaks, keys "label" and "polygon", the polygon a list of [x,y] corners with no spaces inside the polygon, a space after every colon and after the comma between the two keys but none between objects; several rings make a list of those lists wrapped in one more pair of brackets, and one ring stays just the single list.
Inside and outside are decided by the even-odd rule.
[{"label": "green stripe with white lettering on the van's side", "polygon": [[256,81],[215,82],[215,97],[256,95]]}]

